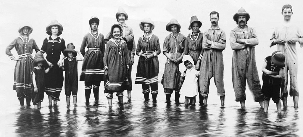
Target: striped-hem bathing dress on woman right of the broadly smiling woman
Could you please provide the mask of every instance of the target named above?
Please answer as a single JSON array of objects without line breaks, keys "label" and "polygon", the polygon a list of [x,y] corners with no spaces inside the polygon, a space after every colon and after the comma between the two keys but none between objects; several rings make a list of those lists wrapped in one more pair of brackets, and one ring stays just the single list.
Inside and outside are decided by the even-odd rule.
[{"label": "striped-hem bathing dress on woman right of the broadly smiling woman", "polygon": [[[158,55],[161,52],[159,38],[156,35],[144,35],[139,38],[137,45],[137,55],[142,54],[150,55],[154,52]],[[138,60],[137,75],[135,84],[158,84],[159,74],[159,60],[158,56],[154,56],[149,60],[145,60],[140,56]]]}]

